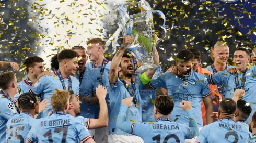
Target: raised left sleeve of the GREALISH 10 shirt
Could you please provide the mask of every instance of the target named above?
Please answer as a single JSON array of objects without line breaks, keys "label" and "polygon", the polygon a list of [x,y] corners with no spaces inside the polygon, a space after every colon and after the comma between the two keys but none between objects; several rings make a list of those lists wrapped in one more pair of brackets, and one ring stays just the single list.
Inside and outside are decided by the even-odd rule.
[{"label": "raised left sleeve of the GREALISH 10 shirt", "polygon": [[126,111],[128,109],[127,105],[122,105],[118,114],[117,128],[121,129],[123,132],[131,133],[131,127],[134,123],[126,121]]}]

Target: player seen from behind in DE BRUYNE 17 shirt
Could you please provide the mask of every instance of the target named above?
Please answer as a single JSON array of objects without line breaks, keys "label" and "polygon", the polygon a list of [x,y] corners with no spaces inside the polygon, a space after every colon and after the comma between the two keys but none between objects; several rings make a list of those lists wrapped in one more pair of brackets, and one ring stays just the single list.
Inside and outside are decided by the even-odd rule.
[{"label": "player seen from behind in DE BRUYNE 17 shirt", "polygon": [[27,142],[94,142],[87,128],[71,115],[67,115],[70,93],[57,90],[52,94],[53,112],[39,119],[28,133]]}]

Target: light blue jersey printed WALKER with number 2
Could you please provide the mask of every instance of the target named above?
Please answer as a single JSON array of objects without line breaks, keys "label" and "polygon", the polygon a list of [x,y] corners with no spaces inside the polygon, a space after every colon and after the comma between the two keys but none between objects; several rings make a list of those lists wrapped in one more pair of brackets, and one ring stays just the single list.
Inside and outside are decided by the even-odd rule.
[{"label": "light blue jersey printed WALKER with number 2", "polygon": [[238,142],[250,141],[249,126],[245,123],[234,122],[232,119],[222,119],[204,126],[195,142]]}]

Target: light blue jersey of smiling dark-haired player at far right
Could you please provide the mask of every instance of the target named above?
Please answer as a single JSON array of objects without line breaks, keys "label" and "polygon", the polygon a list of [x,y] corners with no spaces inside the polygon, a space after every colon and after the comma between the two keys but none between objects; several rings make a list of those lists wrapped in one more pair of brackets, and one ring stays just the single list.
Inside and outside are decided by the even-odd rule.
[{"label": "light blue jersey of smiling dark-haired player at far right", "polygon": [[[239,87],[241,87],[242,83],[242,76],[243,73],[238,73],[238,79],[239,79]],[[225,84],[226,92],[224,94],[224,98],[233,98],[233,94],[236,90],[236,84],[235,84],[235,75],[232,75],[228,73],[227,70],[218,72],[216,74],[207,75],[206,76],[208,81],[212,84]],[[246,72],[246,82],[245,82],[245,88],[246,95],[242,98],[246,102],[250,103],[252,111],[256,110],[256,69],[255,65],[249,68]],[[251,116],[253,112],[250,114],[249,118],[247,119],[246,123],[250,123]]]}]

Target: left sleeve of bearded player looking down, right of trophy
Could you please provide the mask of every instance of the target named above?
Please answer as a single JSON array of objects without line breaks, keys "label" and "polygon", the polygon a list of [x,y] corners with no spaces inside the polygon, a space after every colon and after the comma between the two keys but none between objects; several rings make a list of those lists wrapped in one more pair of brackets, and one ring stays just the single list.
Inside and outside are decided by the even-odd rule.
[{"label": "left sleeve of bearded player looking down, right of trophy", "polygon": [[171,76],[171,73],[169,72],[166,72],[162,75],[160,75],[159,77],[157,77],[157,79],[155,80],[151,80],[149,82],[149,85],[152,89],[158,89],[158,88],[165,88],[167,89],[166,87],[166,80],[169,79]]}]

